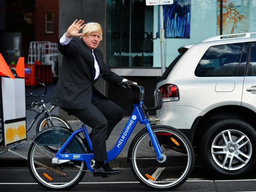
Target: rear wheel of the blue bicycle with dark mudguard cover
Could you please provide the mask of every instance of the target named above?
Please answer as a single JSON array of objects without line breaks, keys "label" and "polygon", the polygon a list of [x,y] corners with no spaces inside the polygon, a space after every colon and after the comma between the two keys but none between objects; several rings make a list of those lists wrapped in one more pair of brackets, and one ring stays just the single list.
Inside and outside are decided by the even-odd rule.
[{"label": "rear wheel of the blue bicycle with dark mudguard cover", "polygon": [[[85,175],[87,169],[84,161],[70,160],[59,165],[52,164],[55,152],[49,149],[53,146],[60,147],[73,131],[61,127],[45,129],[32,139],[28,150],[28,168],[35,181],[47,190],[67,190],[77,185]],[[38,139],[39,138],[39,139]],[[71,146],[72,145],[72,146]],[[72,143],[65,149],[64,153],[77,152],[87,153],[85,145],[80,136],[76,135]]]}]

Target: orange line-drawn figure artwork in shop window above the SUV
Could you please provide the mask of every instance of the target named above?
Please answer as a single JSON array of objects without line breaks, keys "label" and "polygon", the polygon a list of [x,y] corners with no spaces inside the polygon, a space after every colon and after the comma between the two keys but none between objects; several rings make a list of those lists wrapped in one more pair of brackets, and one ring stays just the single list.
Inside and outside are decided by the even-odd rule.
[{"label": "orange line-drawn figure artwork in shop window above the SUV", "polygon": [[[218,34],[220,34],[220,6],[220,0],[218,0]],[[248,32],[248,0],[223,0],[222,11],[223,35]]]}]

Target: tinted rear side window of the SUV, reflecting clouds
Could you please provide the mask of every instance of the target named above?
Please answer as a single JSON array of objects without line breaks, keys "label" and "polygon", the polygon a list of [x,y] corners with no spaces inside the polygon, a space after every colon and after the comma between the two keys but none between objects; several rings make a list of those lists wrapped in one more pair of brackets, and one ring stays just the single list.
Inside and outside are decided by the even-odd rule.
[{"label": "tinted rear side window of the SUV, reflecting clouds", "polygon": [[244,43],[232,43],[209,47],[198,63],[198,77],[238,76]]}]

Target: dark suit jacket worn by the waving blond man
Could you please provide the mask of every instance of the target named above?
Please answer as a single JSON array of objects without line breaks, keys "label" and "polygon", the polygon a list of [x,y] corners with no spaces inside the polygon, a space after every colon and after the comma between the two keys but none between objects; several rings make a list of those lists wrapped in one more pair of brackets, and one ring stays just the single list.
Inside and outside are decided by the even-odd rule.
[{"label": "dark suit jacket worn by the waving blond man", "polygon": [[63,61],[52,105],[85,109],[92,99],[92,89],[95,89],[93,84],[100,77],[114,84],[123,80],[123,77],[107,68],[103,62],[103,54],[98,48],[95,48],[93,53],[100,65],[100,75],[93,80],[94,58],[82,38],[73,37],[68,45],[62,45],[59,41],[58,49],[63,54]]}]

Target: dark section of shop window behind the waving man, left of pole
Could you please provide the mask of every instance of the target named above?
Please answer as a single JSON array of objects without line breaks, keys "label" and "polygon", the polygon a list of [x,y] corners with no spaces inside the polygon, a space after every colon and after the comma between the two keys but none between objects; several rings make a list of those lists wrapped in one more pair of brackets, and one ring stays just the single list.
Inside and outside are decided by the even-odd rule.
[{"label": "dark section of shop window behind the waving man, left of pole", "polygon": [[152,67],[153,6],[145,0],[107,0],[109,67]]}]

